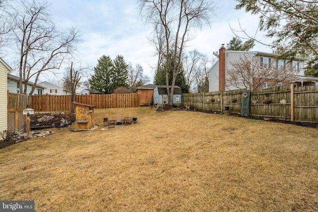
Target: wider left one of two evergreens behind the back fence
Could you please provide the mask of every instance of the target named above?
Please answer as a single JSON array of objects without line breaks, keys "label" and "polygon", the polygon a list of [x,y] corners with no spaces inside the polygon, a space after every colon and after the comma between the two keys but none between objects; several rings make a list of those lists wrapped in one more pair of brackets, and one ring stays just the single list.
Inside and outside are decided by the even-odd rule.
[{"label": "wider left one of two evergreens behind the back fence", "polygon": [[103,55],[97,61],[97,66],[94,67],[94,74],[89,79],[90,88],[103,94],[111,93],[114,90],[112,60],[109,56]]}]

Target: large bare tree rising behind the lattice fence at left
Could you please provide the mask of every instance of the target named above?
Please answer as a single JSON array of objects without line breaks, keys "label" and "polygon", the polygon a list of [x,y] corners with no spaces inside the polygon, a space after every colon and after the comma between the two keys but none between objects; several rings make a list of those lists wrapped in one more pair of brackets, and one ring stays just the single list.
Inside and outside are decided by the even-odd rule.
[{"label": "large bare tree rising behind the lattice fence at left", "polygon": [[35,90],[38,78],[43,71],[59,69],[63,61],[76,49],[79,42],[79,30],[71,28],[68,32],[59,32],[48,13],[48,2],[31,3],[22,1],[22,8],[16,8],[13,20],[14,41],[18,47],[18,70],[20,92],[27,92],[28,81],[32,78]]}]

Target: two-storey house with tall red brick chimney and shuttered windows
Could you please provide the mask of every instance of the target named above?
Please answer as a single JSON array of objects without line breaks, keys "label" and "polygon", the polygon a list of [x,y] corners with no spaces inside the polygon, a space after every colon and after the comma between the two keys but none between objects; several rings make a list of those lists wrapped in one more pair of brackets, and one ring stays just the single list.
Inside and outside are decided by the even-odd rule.
[{"label": "two-storey house with tall red brick chimney and shuttered windows", "polygon": [[[294,83],[297,86],[318,85],[318,78],[305,75],[304,66],[307,59],[295,58],[293,61],[277,60],[276,58],[278,56],[279,55],[257,51],[226,51],[225,47],[222,46],[219,50],[219,60],[209,70],[209,92],[246,88],[243,84],[236,84],[236,86],[234,86],[233,83],[229,81],[229,73],[234,68],[233,64],[239,63],[242,61],[242,58],[248,60],[251,66],[257,65],[259,66],[258,68],[271,68],[273,70],[288,69],[293,75],[293,79],[289,78],[289,80],[286,79],[281,82],[271,83],[271,80],[266,79],[259,86],[250,87],[251,89],[270,88],[290,83]],[[237,78],[238,81],[241,79],[239,74]],[[256,81],[256,79],[260,78],[253,76],[250,80]],[[251,82],[251,84],[253,84],[253,82]]]}]

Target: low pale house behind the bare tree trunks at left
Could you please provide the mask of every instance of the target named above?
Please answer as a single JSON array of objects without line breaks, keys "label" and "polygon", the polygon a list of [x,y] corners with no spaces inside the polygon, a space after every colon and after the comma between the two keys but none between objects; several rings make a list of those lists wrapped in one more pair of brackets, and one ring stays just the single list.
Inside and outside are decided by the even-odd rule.
[{"label": "low pale house behind the bare tree trunks at left", "polygon": [[[10,93],[20,93],[20,86],[22,86],[22,89],[24,90],[24,82],[22,83],[22,85],[20,85],[20,78],[18,76],[14,76],[8,73],[7,80],[7,90]],[[31,92],[33,85],[33,82],[28,82],[26,94],[29,94]],[[44,94],[44,88],[44,86],[37,84],[32,95]]]}]

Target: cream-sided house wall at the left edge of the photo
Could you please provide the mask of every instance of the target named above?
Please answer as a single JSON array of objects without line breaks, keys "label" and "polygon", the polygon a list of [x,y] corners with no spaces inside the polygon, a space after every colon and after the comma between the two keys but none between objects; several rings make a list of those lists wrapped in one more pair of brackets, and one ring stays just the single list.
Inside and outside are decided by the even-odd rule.
[{"label": "cream-sided house wall at the left edge of the photo", "polygon": [[[7,72],[11,68],[0,58],[0,132],[7,130]],[[2,138],[0,137],[0,140]]]}]

